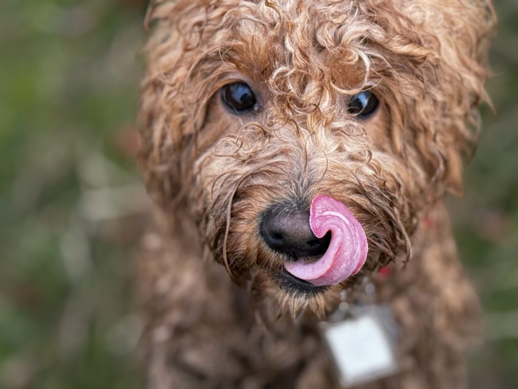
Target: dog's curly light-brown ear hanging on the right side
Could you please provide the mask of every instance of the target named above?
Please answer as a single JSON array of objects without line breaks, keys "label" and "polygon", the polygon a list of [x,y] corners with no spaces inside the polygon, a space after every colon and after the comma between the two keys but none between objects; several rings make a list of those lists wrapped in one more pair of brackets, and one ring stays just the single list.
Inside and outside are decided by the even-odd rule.
[{"label": "dog's curly light-brown ear hanging on the right side", "polygon": [[395,77],[409,69],[412,75],[400,83],[405,89],[400,99],[408,108],[396,124],[412,129],[415,165],[424,163],[431,185],[461,196],[463,167],[478,144],[479,105],[488,102],[487,51],[496,25],[491,0],[390,2],[403,15],[394,20],[407,20],[391,43],[397,56],[407,59]]}]

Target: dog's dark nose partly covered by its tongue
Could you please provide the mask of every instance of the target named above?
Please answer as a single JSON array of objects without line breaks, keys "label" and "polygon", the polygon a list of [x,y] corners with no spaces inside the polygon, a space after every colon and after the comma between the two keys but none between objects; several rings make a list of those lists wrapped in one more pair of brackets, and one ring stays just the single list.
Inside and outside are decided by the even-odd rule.
[{"label": "dog's dark nose partly covered by its tongue", "polygon": [[309,226],[309,212],[283,212],[278,206],[263,214],[260,232],[271,249],[294,259],[323,255],[331,240],[330,232],[323,238],[315,237]]}]

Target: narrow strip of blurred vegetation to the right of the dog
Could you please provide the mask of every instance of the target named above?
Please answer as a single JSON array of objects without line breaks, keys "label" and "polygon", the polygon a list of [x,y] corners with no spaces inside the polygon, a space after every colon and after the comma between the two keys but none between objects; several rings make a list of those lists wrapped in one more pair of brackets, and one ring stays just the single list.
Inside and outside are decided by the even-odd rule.
[{"label": "narrow strip of blurred vegetation to the right of the dog", "polygon": [[484,308],[486,341],[471,353],[470,388],[518,381],[518,0],[494,0],[499,19],[491,51],[494,78],[483,107],[477,154],[465,196],[449,199],[461,258]]}]

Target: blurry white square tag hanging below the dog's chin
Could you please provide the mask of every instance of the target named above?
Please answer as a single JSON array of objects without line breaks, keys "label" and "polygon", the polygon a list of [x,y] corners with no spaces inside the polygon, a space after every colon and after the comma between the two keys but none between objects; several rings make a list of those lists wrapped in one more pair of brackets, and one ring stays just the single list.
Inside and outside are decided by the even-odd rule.
[{"label": "blurry white square tag hanging below the dog's chin", "polygon": [[[386,309],[373,305],[352,313],[340,322],[320,324],[344,387],[375,381],[397,372],[393,341],[391,334],[387,334],[390,328],[385,329],[384,325]],[[388,321],[393,321],[390,310],[388,314]]]}]

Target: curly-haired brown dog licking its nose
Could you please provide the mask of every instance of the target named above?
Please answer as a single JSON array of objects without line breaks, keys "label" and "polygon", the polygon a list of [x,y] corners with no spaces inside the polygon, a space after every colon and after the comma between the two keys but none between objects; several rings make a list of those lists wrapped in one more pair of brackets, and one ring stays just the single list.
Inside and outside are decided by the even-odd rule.
[{"label": "curly-haired brown dog licking its nose", "polygon": [[[490,0],[159,0],[147,19],[148,386],[465,386],[479,304],[441,198],[478,141]],[[365,341],[340,337],[382,334],[395,367],[348,383],[381,348],[343,346],[344,370],[326,323],[366,317]]]}]

